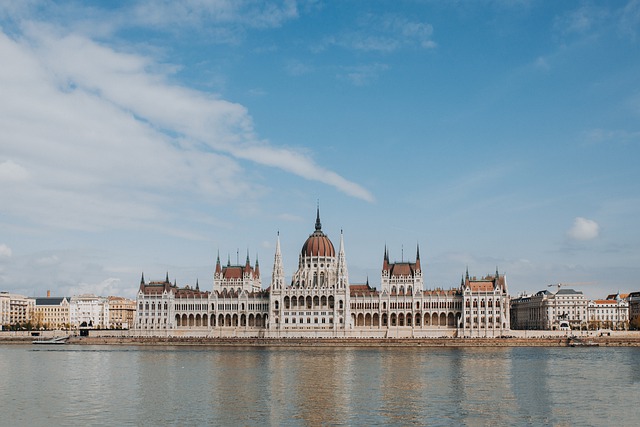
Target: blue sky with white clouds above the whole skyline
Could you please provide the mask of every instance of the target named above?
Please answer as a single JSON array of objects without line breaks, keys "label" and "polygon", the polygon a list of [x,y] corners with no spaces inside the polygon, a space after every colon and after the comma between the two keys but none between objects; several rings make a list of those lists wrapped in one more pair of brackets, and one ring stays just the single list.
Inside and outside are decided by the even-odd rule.
[{"label": "blue sky with white clouds above the whole skyline", "polygon": [[[640,290],[640,1],[0,3],[0,290],[290,279]],[[552,286],[552,288],[554,288]]]}]

